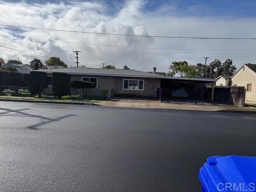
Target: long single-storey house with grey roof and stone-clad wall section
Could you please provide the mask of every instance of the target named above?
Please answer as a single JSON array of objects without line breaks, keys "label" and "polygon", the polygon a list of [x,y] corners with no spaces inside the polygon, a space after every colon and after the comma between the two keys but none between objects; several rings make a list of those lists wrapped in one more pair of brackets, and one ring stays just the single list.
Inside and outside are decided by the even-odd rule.
[{"label": "long single-storey house with grey roof and stone-clad wall section", "polygon": [[[53,72],[62,72],[67,73],[71,81],[96,82],[96,88],[88,90],[88,95],[96,96],[101,95],[99,88],[110,88],[111,96],[156,98],[158,88],[170,88],[176,84],[180,86],[187,82],[200,85],[205,85],[206,82],[216,82],[216,80],[204,78],[167,77],[138,70],[86,68],[84,66],[48,69],[44,72],[49,77]],[[72,89],[70,92],[76,93]],[[52,87],[48,86],[45,93],[52,93]]]}]

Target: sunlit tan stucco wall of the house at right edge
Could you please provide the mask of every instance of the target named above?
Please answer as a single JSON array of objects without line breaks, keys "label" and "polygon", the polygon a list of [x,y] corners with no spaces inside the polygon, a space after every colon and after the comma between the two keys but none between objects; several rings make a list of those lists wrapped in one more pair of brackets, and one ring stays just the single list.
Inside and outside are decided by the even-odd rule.
[{"label": "sunlit tan stucco wall of the house at right edge", "polygon": [[256,73],[254,71],[245,66],[244,71],[242,68],[232,77],[231,83],[232,85],[236,84],[236,86],[244,86],[245,88],[247,88],[247,84],[252,84],[252,91],[246,91],[245,102],[256,103]]}]

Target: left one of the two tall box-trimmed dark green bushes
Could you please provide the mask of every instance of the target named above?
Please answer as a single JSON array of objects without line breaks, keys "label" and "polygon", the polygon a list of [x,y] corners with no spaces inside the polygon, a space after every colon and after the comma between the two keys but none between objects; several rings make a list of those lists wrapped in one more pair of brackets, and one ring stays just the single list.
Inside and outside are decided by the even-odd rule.
[{"label": "left one of the two tall box-trimmed dark green bushes", "polygon": [[29,91],[31,95],[38,94],[42,98],[42,91],[48,87],[47,74],[41,71],[32,71],[29,75]]}]

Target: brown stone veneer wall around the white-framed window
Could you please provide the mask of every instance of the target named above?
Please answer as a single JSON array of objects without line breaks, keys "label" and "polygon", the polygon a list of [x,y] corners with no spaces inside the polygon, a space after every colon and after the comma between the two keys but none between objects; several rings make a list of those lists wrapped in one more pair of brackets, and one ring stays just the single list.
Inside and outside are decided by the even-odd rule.
[{"label": "brown stone veneer wall around the white-framed window", "polygon": [[[123,90],[123,79],[144,80],[144,90]],[[114,77],[114,96],[156,98],[157,88],[160,88],[157,78]]]}]

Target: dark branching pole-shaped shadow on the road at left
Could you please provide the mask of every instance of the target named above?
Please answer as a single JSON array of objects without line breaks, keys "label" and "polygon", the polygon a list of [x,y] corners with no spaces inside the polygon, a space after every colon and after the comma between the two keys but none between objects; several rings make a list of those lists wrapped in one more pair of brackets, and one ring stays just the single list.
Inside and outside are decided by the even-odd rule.
[{"label": "dark branching pole-shaped shadow on the road at left", "polygon": [[44,117],[42,115],[29,114],[29,113],[24,112],[24,110],[29,110],[29,108],[18,109],[18,110],[0,108],[0,110],[5,111],[5,112],[0,112],[0,116],[32,117],[32,118],[39,118],[41,120],[44,120],[43,122],[40,122],[40,123],[37,123],[37,124],[30,125],[30,126],[26,127],[28,129],[32,129],[32,130],[38,130],[38,129],[40,129],[40,128],[38,128],[38,126],[41,126],[41,125],[44,125],[44,124],[59,121],[59,120],[62,120],[64,118],[68,118],[68,117],[71,117],[71,116],[76,116],[76,115],[73,115],[73,114],[69,114],[69,115],[64,115],[64,116],[60,116],[60,117],[57,117],[57,118],[49,118],[49,117]]}]

